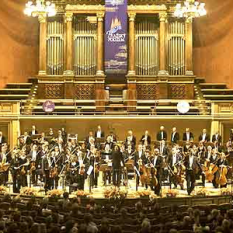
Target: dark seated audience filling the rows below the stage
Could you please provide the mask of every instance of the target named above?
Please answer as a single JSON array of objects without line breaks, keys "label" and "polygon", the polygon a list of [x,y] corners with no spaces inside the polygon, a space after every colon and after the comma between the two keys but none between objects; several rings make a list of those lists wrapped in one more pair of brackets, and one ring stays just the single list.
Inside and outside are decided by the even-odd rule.
[{"label": "dark seated audience filling the rows below the stage", "polygon": [[104,200],[98,205],[90,198],[82,202],[65,193],[58,202],[18,200],[15,207],[15,199],[4,197],[0,233],[233,233],[231,204],[182,209],[140,201],[127,205]]}]

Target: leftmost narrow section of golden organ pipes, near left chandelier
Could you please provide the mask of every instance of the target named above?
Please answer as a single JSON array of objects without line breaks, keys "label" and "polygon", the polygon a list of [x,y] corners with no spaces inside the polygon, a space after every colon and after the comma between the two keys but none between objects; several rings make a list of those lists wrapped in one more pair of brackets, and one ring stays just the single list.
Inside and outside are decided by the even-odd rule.
[{"label": "leftmost narrow section of golden organ pipes, near left chandelier", "polygon": [[64,24],[61,17],[47,22],[47,74],[64,71]]}]

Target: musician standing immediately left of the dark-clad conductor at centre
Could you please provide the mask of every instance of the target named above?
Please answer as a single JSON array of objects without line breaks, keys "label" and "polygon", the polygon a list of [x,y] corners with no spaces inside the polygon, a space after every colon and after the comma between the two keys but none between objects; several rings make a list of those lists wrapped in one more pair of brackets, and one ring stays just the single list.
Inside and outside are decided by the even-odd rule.
[{"label": "musician standing immediately left of the dark-clad conductor at centre", "polygon": [[104,151],[101,152],[101,160],[103,164],[108,165],[108,168],[103,172],[104,185],[106,185],[107,181],[108,184],[111,184],[112,150],[109,144],[106,144]]}]

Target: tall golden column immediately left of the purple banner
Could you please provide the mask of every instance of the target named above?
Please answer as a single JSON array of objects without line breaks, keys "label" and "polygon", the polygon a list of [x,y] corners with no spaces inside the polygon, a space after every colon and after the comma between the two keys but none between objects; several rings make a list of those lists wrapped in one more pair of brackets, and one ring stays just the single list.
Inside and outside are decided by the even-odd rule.
[{"label": "tall golden column immediately left of the purple banner", "polygon": [[103,66],[103,52],[104,52],[104,27],[103,27],[104,13],[97,13],[97,71],[96,75],[104,75],[104,66]]}]

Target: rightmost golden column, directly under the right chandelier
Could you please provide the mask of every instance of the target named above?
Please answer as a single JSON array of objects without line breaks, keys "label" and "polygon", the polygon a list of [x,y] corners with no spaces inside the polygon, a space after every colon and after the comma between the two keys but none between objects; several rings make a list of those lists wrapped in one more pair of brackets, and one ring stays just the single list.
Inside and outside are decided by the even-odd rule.
[{"label": "rightmost golden column, directly under the right chandelier", "polygon": [[185,21],[185,67],[186,75],[193,75],[193,29],[192,19]]}]

